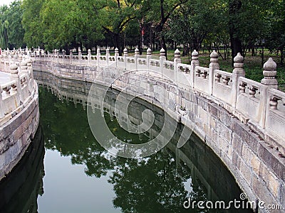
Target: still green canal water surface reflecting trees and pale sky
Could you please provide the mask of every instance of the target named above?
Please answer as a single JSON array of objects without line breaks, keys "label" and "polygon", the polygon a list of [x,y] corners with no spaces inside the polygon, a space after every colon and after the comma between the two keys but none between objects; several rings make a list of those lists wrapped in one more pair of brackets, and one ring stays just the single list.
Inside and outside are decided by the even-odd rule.
[{"label": "still green canal water surface reflecting trees and pale sky", "polygon": [[[192,134],[185,146],[176,147],[183,126],[161,151],[147,158],[127,159],[111,155],[95,140],[88,124],[85,100],[90,84],[61,80],[51,75],[35,74],[39,84],[39,106],[45,151],[20,165],[33,178],[25,181],[15,193],[25,190],[28,199],[19,202],[11,195],[0,212],[242,212],[242,209],[185,209],[187,197],[195,201],[239,200],[241,190],[219,158]],[[49,89],[47,89],[48,87]],[[76,94],[76,96],[74,96]],[[113,104],[118,92],[109,91],[105,102]],[[73,96],[72,96],[73,95]],[[72,98],[73,97],[73,98]],[[110,130],[130,143],[150,141],[159,132],[164,112],[135,99],[130,114],[138,120],[140,111],[155,112],[155,124],[144,134],[130,134],[120,128],[115,115],[104,108]],[[94,113],[102,113],[95,109]],[[173,121],[175,123],[175,121]],[[38,133],[37,135],[41,135]],[[17,175],[14,175],[18,177]],[[1,192],[20,180],[7,178]],[[19,179],[19,177],[18,177]],[[32,183],[32,184],[31,184]],[[24,192],[23,192],[24,193]],[[0,196],[1,198],[1,196]]]}]

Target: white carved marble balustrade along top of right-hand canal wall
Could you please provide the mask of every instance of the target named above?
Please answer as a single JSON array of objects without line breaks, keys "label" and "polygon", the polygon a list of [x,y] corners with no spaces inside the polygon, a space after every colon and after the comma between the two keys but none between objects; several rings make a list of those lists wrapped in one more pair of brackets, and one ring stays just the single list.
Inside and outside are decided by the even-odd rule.
[{"label": "white carved marble balustrade along top of right-hand canal wall", "polygon": [[[139,55],[138,49],[133,57],[128,56],[127,49],[123,51],[123,56],[118,55],[118,49],[115,49],[115,55],[110,55],[109,49],[106,50],[106,55],[101,55],[99,48],[96,55],[91,55],[90,50],[88,55],[82,55],[81,50],[78,55],[65,53],[63,50],[60,55],[58,50],[54,50],[46,55],[38,49],[35,53],[28,52],[28,55],[33,60],[64,65],[115,67],[127,71],[153,70],[162,77],[173,80],[180,89],[193,89],[201,93],[237,116],[244,124],[249,123],[257,131],[265,132],[265,136],[279,141],[279,151],[285,153],[285,131],[280,131],[285,124],[285,107],[281,103],[281,100],[284,103],[285,94],[277,90],[276,63],[271,58],[264,64],[264,80],[260,83],[245,78],[244,58],[240,54],[234,58],[234,70],[230,73],[219,70],[218,54],[215,51],[210,55],[209,67],[199,66],[196,50],[192,53],[191,65],[181,63],[179,50],[175,51],[174,61],[165,59],[163,49],[159,59],[152,56],[150,49],[144,58]],[[274,109],[276,103],[282,107]]]}]

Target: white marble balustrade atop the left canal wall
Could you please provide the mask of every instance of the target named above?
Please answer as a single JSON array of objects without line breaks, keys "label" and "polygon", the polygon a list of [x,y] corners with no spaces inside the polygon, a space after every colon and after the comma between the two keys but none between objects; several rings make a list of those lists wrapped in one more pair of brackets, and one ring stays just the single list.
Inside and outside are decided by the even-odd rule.
[{"label": "white marble balustrade atop the left canal wall", "polygon": [[[13,56],[13,57],[11,57]],[[23,55],[0,55],[0,71],[10,80],[0,84],[0,126],[19,114],[36,91],[31,60]]]}]

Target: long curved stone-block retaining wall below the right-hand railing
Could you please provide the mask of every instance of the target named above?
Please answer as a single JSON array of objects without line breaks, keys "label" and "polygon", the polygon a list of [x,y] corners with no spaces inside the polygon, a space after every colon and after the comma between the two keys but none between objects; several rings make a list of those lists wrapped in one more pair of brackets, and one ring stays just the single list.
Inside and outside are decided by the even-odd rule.
[{"label": "long curved stone-block retaining wall below the right-hand railing", "polygon": [[[126,72],[118,68],[103,70],[100,67],[61,65],[44,61],[36,61],[34,68],[73,80],[96,80],[96,83],[111,85],[118,90],[132,84],[128,93],[135,95],[139,90],[140,94],[147,92],[150,96],[141,98],[157,105],[155,99],[150,97],[163,96],[167,114],[185,126],[194,126],[197,136],[227,165],[249,200],[263,201],[266,205],[282,204],[285,207],[285,158],[272,146],[273,142],[278,144],[279,141],[264,137],[250,122],[244,124],[241,118],[215,102],[209,94],[186,89],[175,92],[175,85],[160,76]],[[163,88],[164,92],[157,90],[155,85]],[[86,104],[93,103],[86,100]],[[185,110],[180,111],[180,106]],[[259,212],[282,211],[284,212],[259,209]]]}]

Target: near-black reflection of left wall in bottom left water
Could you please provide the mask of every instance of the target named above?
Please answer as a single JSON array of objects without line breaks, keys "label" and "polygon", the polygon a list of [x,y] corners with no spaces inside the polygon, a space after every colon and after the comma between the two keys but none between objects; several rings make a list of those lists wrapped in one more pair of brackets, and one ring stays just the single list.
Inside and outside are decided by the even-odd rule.
[{"label": "near-black reflection of left wall in bottom left water", "polygon": [[19,164],[0,182],[0,212],[38,212],[37,197],[43,195],[43,155],[40,127]]}]

